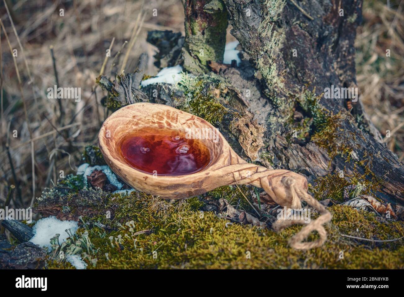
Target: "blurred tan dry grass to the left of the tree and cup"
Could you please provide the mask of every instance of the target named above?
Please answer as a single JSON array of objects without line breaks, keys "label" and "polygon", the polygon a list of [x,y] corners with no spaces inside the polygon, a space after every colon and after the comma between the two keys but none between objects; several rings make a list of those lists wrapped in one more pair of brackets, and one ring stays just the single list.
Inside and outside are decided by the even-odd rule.
[{"label": "blurred tan dry grass to the left of the tree and cup", "polygon": [[[15,191],[11,205],[26,207],[33,196],[40,196],[44,187],[59,179],[61,170],[64,175],[73,172],[85,145],[97,143],[97,132],[108,114],[100,105],[105,93],[101,88],[95,88],[95,78],[100,73],[112,39],[115,38],[111,57],[105,65],[105,75],[114,76],[123,66],[125,72],[133,71],[143,52],[150,57],[147,73],[155,74],[154,47],[145,41],[147,31],[183,30],[183,8],[181,0],[8,0],[6,3],[21,40],[21,49],[3,0],[0,2],[0,17],[11,47],[17,49],[15,59],[28,118],[26,120],[23,110],[13,57],[2,31],[0,205],[3,205],[10,185],[16,184],[6,151],[6,145],[9,145],[22,193],[19,200]],[[153,16],[154,8],[157,16]],[[59,15],[60,9],[64,9],[63,17]],[[112,67],[114,57],[125,41],[128,43]],[[81,101],[61,99],[60,109],[57,100],[48,99],[47,89],[53,87],[56,80],[61,87],[81,88]],[[14,130],[17,131],[16,138],[13,137]],[[35,187],[32,186],[31,139],[34,143]],[[33,189],[35,193],[32,193]]]}]

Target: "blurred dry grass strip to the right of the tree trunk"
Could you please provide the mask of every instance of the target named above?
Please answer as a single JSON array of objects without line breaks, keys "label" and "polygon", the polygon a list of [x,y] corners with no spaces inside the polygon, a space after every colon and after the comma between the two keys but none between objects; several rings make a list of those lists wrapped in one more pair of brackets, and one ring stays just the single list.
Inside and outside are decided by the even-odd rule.
[{"label": "blurred dry grass strip to the right of the tree trunk", "polygon": [[[390,150],[404,160],[404,1],[364,1],[356,38],[362,102]],[[386,50],[390,57],[386,57]],[[386,130],[391,137],[386,138]]]}]

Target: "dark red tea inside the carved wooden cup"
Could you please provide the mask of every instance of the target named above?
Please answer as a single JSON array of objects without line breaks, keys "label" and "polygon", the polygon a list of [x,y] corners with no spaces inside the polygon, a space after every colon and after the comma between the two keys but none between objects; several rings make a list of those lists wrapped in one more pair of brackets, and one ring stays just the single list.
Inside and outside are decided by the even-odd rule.
[{"label": "dark red tea inside the carved wooden cup", "polygon": [[129,132],[120,140],[124,160],[145,173],[185,175],[210,163],[208,148],[199,139],[185,139],[185,133],[154,127]]}]

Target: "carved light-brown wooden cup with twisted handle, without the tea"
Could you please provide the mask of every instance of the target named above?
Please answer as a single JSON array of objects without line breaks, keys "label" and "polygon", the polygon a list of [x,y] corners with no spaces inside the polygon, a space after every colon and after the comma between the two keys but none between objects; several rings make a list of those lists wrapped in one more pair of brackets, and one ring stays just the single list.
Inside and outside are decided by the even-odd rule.
[{"label": "carved light-brown wooden cup with twisted handle, without the tea", "polygon": [[[307,191],[305,177],[287,170],[269,170],[240,158],[218,132],[218,141],[202,139],[208,147],[212,162],[202,171],[190,175],[164,176],[141,172],[122,158],[118,143],[123,135],[145,126],[215,129],[206,120],[167,105],[135,103],[114,112],[99,132],[99,146],[107,164],[122,180],[137,190],[164,199],[197,196],[223,185],[251,184],[262,187],[278,204],[290,204],[288,190],[282,184],[286,176],[294,177],[298,186]],[[292,205],[288,205],[292,206]],[[298,205],[295,205],[298,206]]]}]

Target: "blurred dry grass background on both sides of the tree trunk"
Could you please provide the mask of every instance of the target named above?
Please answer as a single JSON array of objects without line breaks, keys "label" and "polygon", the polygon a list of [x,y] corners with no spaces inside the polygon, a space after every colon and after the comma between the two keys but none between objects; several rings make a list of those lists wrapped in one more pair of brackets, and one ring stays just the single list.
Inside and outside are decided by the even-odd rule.
[{"label": "blurred dry grass background on both sides of the tree trunk", "polygon": [[[96,87],[101,72],[133,72],[149,54],[153,29],[184,31],[181,0],[0,0],[0,206],[25,208],[42,190],[75,171],[108,116]],[[404,160],[404,3],[365,0],[356,38],[361,99],[390,150]],[[156,9],[154,15],[153,10]],[[157,15],[156,15],[157,13]],[[8,15],[11,15],[13,24]],[[4,31],[5,29],[5,31]],[[229,31],[229,29],[228,29]],[[17,35],[18,38],[17,38]],[[227,34],[228,41],[234,38]],[[104,63],[106,51],[111,57]],[[386,49],[391,56],[386,57]],[[15,51],[17,50],[17,51]],[[16,55],[13,57],[12,53]],[[55,71],[56,70],[56,71]],[[81,88],[81,101],[48,99],[47,89]],[[20,193],[19,193],[20,192]],[[21,198],[20,198],[21,197]]]}]

